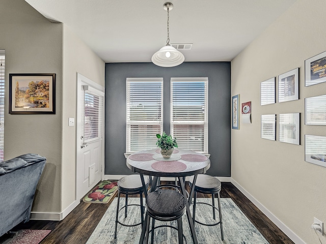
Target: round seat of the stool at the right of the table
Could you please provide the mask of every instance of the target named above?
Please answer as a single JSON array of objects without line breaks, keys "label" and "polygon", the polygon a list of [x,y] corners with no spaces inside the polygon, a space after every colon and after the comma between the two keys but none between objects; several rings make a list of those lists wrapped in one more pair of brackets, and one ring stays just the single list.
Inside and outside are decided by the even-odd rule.
[{"label": "round seat of the stool at the right of the table", "polygon": [[[189,179],[189,184],[191,184],[191,186],[193,181],[194,181],[194,176],[192,176]],[[221,191],[221,187],[222,187],[221,181],[216,179],[215,177],[207,174],[198,174],[196,185],[195,185],[195,190],[197,192],[207,193],[207,194],[217,193]]]}]

